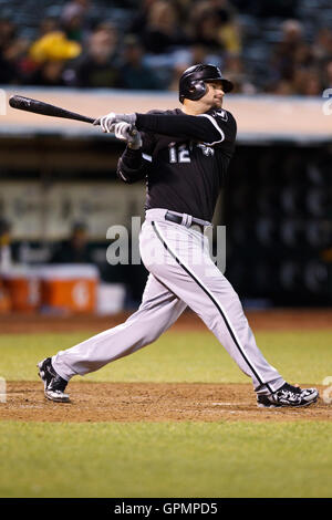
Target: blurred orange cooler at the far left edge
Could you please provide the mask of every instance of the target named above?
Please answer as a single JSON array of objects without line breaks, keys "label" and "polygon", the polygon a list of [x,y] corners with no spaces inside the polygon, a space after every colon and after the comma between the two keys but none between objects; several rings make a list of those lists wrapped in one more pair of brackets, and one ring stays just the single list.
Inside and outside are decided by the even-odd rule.
[{"label": "blurred orange cooler at the far left edge", "polygon": [[31,312],[39,308],[40,280],[35,269],[13,267],[2,274],[2,280],[11,311]]}]

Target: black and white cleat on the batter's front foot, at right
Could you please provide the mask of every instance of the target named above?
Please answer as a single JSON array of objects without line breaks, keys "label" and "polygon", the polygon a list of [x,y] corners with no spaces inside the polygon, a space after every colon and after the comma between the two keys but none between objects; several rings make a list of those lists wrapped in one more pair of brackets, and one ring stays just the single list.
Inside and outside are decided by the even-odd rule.
[{"label": "black and white cleat on the batter's front foot, at right", "polygon": [[273,394],[258,395],[257,406],[259,408],[279,408],[281,406],[298,408],[301,406],[310,406],[317,402],[319,393],[315,388],[300,388],[284,383]]}]

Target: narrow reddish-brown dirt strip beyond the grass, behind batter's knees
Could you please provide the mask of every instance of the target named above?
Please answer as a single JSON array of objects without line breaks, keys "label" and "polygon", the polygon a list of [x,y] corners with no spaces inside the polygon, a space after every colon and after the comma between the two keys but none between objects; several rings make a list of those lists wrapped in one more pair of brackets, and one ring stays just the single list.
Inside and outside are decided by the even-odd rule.
[{"label": "narrow reddish-brown dirt strip beyond the grass, behind batter's knees", "polygon": [[[264,311],[246,311],[250,326],[257,330],[318,330],[332,329],[332,309],[271,309]],[[71,315],[46,316],[40,314],[2,314],[0,331],[2,334],[37,332],[101,332],[123,323],[129,313],[111,316]],[[203,321],[193,312],[185,312],[172,330],[206,330]]]}]

